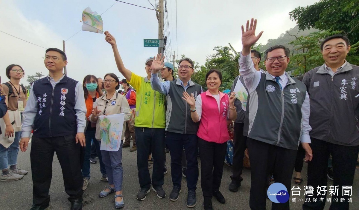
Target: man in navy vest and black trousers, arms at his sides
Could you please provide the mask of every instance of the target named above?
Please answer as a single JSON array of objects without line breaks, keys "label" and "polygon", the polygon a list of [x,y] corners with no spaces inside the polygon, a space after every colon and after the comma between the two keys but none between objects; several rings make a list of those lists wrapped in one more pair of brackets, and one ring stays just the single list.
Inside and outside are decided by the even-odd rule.
[{"label": "man in navy vest and black trousers, arms at his sides", "polygon": [[59,159],[71,210],[82,209],[80,150],[85,146],[86,105],[81,83],[62,73],[66,55],[57,48],[46,50],[47,77],[35,81],[25,107],[20,149],[25,152],[33,130],[30,153],[33,205],[46,209],[50,202],[52,159]]}]

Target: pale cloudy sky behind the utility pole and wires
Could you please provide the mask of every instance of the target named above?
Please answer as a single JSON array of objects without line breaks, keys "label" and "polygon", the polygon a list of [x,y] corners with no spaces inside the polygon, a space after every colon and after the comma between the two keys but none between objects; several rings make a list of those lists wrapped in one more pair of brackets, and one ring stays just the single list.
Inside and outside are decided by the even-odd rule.
[{"label": "pale cloudy sky behind the utility pole and wires", "polygon": [[[123,1],[152,9],[152,5],[156,5],[155,0]],[[176,0],[167,0],[167,55],[179,55],[175,59],[186,55],[203,65],[216,46],[230,43],[239,52],[242,49],[241,25],[252,17],[258,21],[258,33],[264,31],[259,43],[265,44],[268,39],[276,39],[295,26],[295,22],[289,19],[290,11],[317,1],[178,0],[176,37]],[[65,40],[69,77],[82,82],[88,74],[103,77],[106,73],[115,73],[120,79],[123,78],[104,34],[80,31],[74,35],[81,30],[82,11],[88,6],[98,14],[103,13],[103,29],[115,36],[125,67],[146,76],[145,60],[157,55],[158,48],[143,47],[143,39],[158,38],[156,13],[121,2],[115,3],[115,0],[0,0],[0,31],[41,46],[0,32],[1,83],[8,81],[5,69],[10,64],[23,67],[25,77],[20,83],[25,85],[28,84],[27,75],[36,72],[47,75],[48,70],[42,58],[45,48],[62,49],[62,40]],[[165,61],[172,59],[166,58]]]}]

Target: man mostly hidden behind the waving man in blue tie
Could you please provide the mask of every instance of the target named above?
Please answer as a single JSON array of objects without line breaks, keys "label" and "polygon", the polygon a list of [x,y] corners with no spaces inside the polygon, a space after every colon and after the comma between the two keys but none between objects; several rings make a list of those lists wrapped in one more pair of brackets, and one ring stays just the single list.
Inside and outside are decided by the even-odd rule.
[{"label": "man mostly hidden behind the waving man in blue tie", "polygon": [[[257,50],[251,50],[251,59],[253,61],[254,68],[264,73],[263,69],[259,68],[258,63],[261,61],[262,56],[261,53]],[[238,75],[233,82],[232,88],[230,88],[230,92],[234,92],[241,84],[246,88],[244,84],[243,77]],[[236,88],[237,87],[237,88]],[[246,88],[248,93],[248,89]],[[248,94],[247,94],[248,95]],[[248,97],[248,96],[247,96]],[[228,189],[232,192],[237,192],[238,188],[241,186],[241,182],[243,181],[242,178],[242,171],[243,171],[243,158],[244,158],[244,151],[247,148],[247,137],[243,135],[243,128],[244,128],[244,118],[246,116],[246,105],[242,106],[242,102],[236,98],[234,101],[234,106],[236,107],[237,111],[237,119],[234,121],[234,133],[233,133],[233,165],[232,165],[232,175]],[[232,123],[232,121],[230,121]]]}]

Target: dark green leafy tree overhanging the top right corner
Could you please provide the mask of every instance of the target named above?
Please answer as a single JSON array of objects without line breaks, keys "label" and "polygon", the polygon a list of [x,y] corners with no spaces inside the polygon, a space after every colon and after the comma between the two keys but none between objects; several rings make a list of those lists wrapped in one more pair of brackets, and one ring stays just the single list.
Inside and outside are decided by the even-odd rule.
[{"label": "dark green leafy tree overhanging the top right corner", "polygon": [[343,31],[353,44],[359,41],[358,0],[320,0],[313,5],[295,8],[289,16],[297,21],[300,30]]}]

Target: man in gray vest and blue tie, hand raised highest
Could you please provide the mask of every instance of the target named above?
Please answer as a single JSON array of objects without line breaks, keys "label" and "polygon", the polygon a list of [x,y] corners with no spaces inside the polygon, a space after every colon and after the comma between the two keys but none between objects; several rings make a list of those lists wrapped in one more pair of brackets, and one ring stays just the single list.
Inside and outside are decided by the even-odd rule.
[{"label": "man in gray vest and blue tie, hand raised highest", "polygon": [[[256,25],[257,20],[253,18],[251,24],[247,21],[246,31],[242,25],[243,50],[238,61],[239,73],[249,93],[244,135],[251,160],[250,207],[265,209],[269,172],[273,172],[274,180],[283,184],[286,188],[283,190],[290,194],[299,140],[306,150],[306,159],[312,159],[310,105],[306,86],[285,73],[289,63],[288,48],[275,45],[266,50],[267,72],[258,72],[253,67],[251,47],[263,33],[255,35]],[[289,201],[282,202],[272,202],[272,209],[289,209]]]}]

